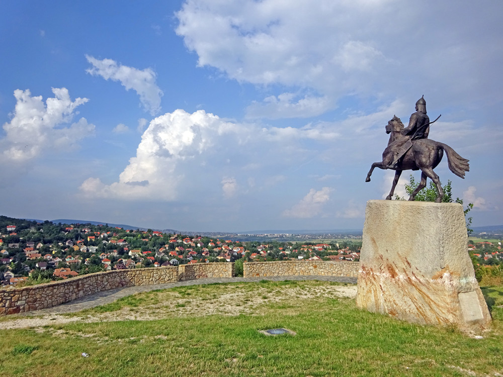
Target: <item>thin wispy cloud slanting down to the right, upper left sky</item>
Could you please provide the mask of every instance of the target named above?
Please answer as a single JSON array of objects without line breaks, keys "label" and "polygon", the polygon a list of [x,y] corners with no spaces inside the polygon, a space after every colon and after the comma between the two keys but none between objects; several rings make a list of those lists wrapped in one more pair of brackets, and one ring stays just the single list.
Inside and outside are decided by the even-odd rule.
[{"label": "thin wispy cloud slanting down to the right, upper left sky", "polygon": [[162,90],[155,83],[155,72],[151,68],[143,70],[128,67],[112,59],[96,59],[86,55],[93,67],[86,72],[94,76],[102,76],[105,80],[119,81],[127,90],[133,89],[140,96],[140,102],[146,111],[155,115],[160,111]]}]

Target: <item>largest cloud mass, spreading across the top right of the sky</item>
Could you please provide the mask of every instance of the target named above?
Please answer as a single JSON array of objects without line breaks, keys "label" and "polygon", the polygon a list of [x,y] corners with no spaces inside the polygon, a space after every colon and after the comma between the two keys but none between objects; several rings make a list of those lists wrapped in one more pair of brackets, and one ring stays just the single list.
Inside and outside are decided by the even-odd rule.
[{"label": "largest cloud mass, spreading across the top right of the sky", "polygon": [[458,5],[187,0],[176,32],[198,65],[276,91],[248,107],[251,118],[311,117],[345,96],[382,101],[411,90],[449,104],[501,101],[503,49],[490,36],[500,35],[503,3]]}]

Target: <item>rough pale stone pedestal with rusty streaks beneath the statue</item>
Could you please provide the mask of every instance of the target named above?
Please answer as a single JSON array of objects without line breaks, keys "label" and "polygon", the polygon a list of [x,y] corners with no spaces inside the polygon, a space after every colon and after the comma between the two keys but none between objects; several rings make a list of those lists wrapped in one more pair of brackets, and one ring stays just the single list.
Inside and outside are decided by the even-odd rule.
[{"label": "rough pale stone pedestal with rusty streaks beneath the statue", "polygon": [[357,306],[414,323],[487,328],[467,242],[460,204],[367,202]]}]

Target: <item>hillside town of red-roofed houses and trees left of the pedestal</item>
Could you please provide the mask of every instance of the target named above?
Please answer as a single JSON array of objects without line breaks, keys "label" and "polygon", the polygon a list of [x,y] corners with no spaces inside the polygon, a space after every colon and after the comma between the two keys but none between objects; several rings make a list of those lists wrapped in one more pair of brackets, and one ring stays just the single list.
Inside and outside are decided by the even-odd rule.
[{"label": "hillside town of red-roofed houses and trees left of the pedestal", "polygon": [[[2,217],[0,220],[7,221]],[[0,222],[0,280],[15,285],[79,274],[178,264],[309,259],[359,260],[361,243],[246,241],[182,236],[107,225],[62,225],[17,219]],[[5,229],[5,231],[3,231]]]}]

